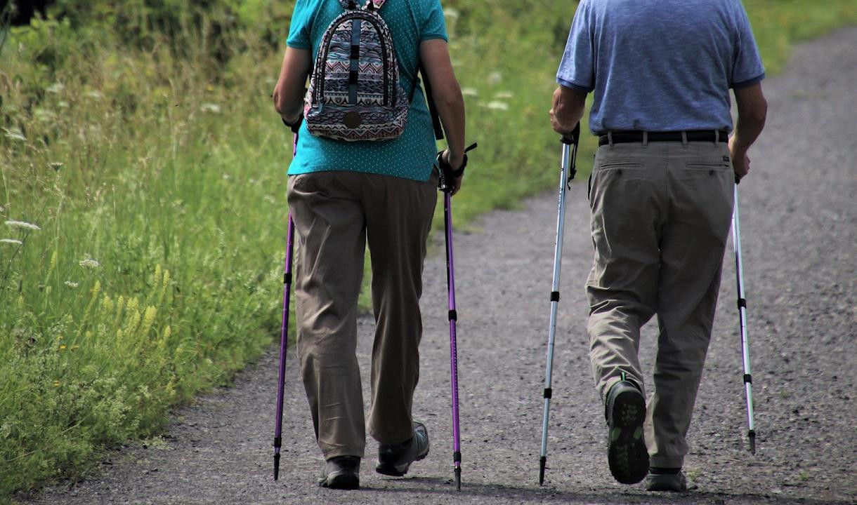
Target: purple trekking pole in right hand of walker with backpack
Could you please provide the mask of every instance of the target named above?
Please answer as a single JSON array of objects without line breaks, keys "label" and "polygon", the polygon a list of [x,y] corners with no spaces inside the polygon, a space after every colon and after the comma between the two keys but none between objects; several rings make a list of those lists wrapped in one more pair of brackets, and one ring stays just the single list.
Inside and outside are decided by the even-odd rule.
[{"label": "purple trekking pole in right hand of walker with backpack", "polygon": [[454,180],[464,174],[467,166],[467,151],[476,149],[476,144],[464,150],[464,163],[458,170],[452,170],[449,163],[443,159],[443,151],[437,153],[440,167],[438,187],[443,192],[444,235],[446,236],[446,289],[449,300],[449,359],[452,376],[452,465],[455,471],[455,488],[461,490],[461,431],[458,425],[458,343],[455,325],[458,322],[458,312],[455,310],[455,258],[452,254],[452,190]]}]

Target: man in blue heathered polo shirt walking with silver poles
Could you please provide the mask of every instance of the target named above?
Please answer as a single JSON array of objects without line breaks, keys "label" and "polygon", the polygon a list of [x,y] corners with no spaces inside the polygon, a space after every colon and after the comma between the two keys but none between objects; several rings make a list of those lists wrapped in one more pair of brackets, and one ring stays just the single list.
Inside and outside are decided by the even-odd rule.
[{"label": "man in blue heathered polo shirt walking with silver poles", "polygon": [[[581,0],[550,110],[572,131],[594,93],[592,370],[620,483],[685,490],[686,434],[707,352],[733,184],[764,127],[764,68],[740,0]],[[729,89],[738,122],[731,138]],[[657,315],[648,405],[640,327]]]}]

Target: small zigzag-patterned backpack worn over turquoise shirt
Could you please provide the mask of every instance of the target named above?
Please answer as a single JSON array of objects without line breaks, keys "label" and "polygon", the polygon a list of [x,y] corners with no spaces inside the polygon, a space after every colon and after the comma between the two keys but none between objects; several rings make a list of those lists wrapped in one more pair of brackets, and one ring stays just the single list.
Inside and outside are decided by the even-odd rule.
[{"label": "small zigzag-patterned backpack worn over turquoise shirt", "polygon": [[310,134],[389,140],[405,131],[411,100],[399,86],[393,37],[377,12],[385,2],[365,0],[360,7],[357,0],[339,0],[345,13],[321,39],[304,100]]}]

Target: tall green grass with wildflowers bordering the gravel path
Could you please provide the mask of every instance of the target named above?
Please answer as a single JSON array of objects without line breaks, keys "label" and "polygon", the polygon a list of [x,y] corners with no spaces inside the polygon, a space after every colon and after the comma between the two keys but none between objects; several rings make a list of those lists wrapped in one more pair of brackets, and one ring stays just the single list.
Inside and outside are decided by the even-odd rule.
[{"label": "tall green grass with wildflowers bordering the gravel path", "polygon": [[[290,138],[269,95],[291,3],[60,3],[77,14],[0,48],[0,497],[157,434],[279,335]],[[846,1],[746,4],[770,71],[857,20]],[[555,186],[573,7],[445,6],[480,143],[461,225]]]}]

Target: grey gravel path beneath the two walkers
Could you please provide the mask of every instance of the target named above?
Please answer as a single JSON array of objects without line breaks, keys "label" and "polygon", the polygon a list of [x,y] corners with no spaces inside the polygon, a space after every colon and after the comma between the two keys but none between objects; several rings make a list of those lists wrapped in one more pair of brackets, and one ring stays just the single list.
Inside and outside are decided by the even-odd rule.
[{"label": "grey gravel path beneath the two walkers", "polygon": [[[321,490],[321,468],[294,360],[288,365],[284,461],[271,478],[276,358],[235,387],[177,412],[168,435],[123,449],[100,478],[59,486],[33,503],[854,503],[857,502],[857,27],[795,50],[765,82],[768,127],[741,184],[746,291],[755,378],[758,454],[746,418],[727,254],[720,306],[699,391],[683,495],[614,483],[602,407],[585,341],[583,282],[592,257],[585,184],[569,195],[563,298],[554,360],[548,474],[537,484],[555,195],[496,211],[456,235],[459,383],[464,485],[452,485],[446,279],[426,265],[422,382],[415,415],[432,452],[408,478],[363,464],[363,490]],[[559,148],[557,149],[559,155]],[[557,162],[558,163],[558,162]],[[478,168],[476,168],[478,169]],[[439,237],[439,240],[440,239]],[[373,324],[362,318],[368,373]],[[655,332],[644,331],[650,371]],[[294,353],[292,352],[293,356]],[[368,378],[364,377],[368,387]],[[375,454],[369,441],[367,455]]]}]

